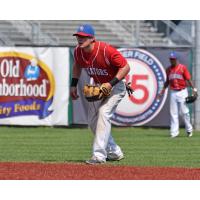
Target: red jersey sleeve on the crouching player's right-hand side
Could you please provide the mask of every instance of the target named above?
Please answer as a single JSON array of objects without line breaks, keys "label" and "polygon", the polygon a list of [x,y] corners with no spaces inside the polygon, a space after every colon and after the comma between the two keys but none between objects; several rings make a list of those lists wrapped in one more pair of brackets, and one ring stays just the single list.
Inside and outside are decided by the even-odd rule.
[{"label": "red jersey sleeve on the crouching player's right-hand side", "polygon": [[117,49],[112,46],[108,46],[108,58],[112,66],[117,68],[123,68],[127,65],[127,60],[121,55]]}]

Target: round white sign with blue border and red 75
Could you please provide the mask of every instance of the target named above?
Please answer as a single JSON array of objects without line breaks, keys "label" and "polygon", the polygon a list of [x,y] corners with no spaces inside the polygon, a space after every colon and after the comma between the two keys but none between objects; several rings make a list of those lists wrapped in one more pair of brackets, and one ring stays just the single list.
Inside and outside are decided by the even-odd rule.
[{"label": "round white sign with blue border and red 75", "polygon": [[112,118],[117,125],[132,126],[146,124],[162,109],[166,93],[158,99],[157,95],[166,80],[165,69],[151,53],[142,49],[119,49],[127,59],[131,70],[126,77],[134,93],[122,99]]}]

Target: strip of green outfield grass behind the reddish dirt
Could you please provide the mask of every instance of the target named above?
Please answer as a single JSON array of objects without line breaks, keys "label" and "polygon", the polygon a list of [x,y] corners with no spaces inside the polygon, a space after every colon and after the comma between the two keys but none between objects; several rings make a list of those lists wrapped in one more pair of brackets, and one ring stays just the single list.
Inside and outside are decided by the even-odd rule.
[{"label": "strip of green outfield grass behind the reddish dirt", "polygon": [[[177,138],[168,129],[113,128],[125,159],[112,165],[200,167],[200,132]],[[0,162],[83,162],[91,156],[87,128],[1,127]]]}]

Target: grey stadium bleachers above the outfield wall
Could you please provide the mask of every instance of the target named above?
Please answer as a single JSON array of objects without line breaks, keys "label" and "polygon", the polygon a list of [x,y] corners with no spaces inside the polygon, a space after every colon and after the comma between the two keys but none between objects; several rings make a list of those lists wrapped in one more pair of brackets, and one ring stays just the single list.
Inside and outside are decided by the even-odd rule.
[{"label": "grey stadium bleachers above the outfield wall", "polygon": [[72,34],[77,26],[89,23],[96,38],[116,47],[166,46],[170,43],[151,23],[134,20],[1,20],[1,45],[75,46]]}]

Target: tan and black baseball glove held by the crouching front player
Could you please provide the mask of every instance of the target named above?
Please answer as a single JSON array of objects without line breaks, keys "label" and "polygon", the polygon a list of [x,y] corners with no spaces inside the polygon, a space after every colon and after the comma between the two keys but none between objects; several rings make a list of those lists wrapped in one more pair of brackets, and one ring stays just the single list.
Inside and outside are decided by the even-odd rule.
[{"label": "tan and black baseball glove held by the crouching front player", "polygon": [[105,97],[108,97],[110,95],[110,90],[108,90],[104,84],[101,86],[97,85],[85,85],[83,87],[83,94],[87,101],[99,101]]}]

